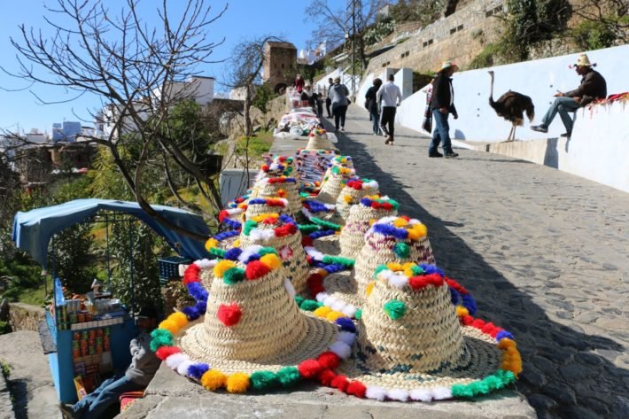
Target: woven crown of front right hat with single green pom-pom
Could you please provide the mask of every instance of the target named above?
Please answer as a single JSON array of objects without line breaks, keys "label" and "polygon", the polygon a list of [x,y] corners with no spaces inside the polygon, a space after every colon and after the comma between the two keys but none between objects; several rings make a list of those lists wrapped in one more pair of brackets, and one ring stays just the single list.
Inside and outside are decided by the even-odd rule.
[{"label": "woven crown of front right hat with single green pom-pom", "polygon": [[417,374],[419,383],[422,373],[445,374],[470,362],[445,282],[415,291],[378,275],[358,330],[355,356],[383,374]]}]

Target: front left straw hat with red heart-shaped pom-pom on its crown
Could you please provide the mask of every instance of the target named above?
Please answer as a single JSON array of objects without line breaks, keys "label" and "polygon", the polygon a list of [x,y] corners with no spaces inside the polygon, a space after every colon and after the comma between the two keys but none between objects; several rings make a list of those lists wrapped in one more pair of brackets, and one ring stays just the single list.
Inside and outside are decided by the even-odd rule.
[{"label": "front left straw hat with red heart-shaped pom-pom on its crown", "polygon": [[[338,367],[353,342],[353,332],[343,331],[351,321],[329,322],[299,310],[273,249],[238,251],[186,269],[183,282],[198,303],[159,323],[151,350],[212,391],[268,391]],[[198,282],[203,269],[213,271],[207,288]]]}]

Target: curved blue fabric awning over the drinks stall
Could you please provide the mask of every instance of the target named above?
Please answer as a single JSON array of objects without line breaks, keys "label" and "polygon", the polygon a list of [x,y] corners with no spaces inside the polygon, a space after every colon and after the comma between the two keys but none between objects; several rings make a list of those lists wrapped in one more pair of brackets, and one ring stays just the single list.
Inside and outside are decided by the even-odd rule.
[{"label": "curved blue fabric awning over the drinks stall", "polygon": [[[183,229],[210,236],[210,229],[203,218],[170,206],[151,206],[161,216]],[[16,213],[13,219],[12,239],[19,249],[28,252],[46,268],[50,237],[68,227],[86,220],[100,210],[118,211],[136,216],[148,224],[159,236],[164,237],[175,251],[192,260],[207,257],[204,243],[175,233],[145,213],[136,202],[112,199],[76,199],[58,206],[37,208],[27,213]]]}]

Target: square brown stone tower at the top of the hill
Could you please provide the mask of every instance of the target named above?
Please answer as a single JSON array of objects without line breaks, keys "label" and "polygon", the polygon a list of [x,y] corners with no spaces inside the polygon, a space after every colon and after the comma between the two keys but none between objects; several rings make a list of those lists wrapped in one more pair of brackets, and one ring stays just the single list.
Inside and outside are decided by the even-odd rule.
[{"label": "square brown stone tower at the top of the hill", "polygon": [[292,43],[268,42],[264,46],[266,60],[262,69],[262,81],[276,92],[291,86],[297,74],[297,48]]}]

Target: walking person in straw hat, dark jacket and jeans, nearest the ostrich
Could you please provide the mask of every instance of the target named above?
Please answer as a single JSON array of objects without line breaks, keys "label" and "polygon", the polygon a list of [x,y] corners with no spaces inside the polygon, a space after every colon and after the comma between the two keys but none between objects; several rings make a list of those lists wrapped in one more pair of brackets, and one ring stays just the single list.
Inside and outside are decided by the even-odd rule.
[{"label": "walking person in straw hat, dark jacket and jeans, nearest the ostrich", "polygon": [[[450,113],[455,120],[459,118],[454,107],[454,88],[452,87],[452,74],[458,69],[459,67],[450,61],[444,61],[437,78],[433,81],[431,109],[435,128],[432,132],[431,145],[428,148],[428,157],[458,157],[458,154],[452,151],[450,125],[447,123],[447,117]],[[441,142],[443,142],[443,154],[437,150]]]}]

